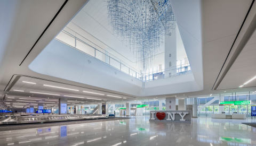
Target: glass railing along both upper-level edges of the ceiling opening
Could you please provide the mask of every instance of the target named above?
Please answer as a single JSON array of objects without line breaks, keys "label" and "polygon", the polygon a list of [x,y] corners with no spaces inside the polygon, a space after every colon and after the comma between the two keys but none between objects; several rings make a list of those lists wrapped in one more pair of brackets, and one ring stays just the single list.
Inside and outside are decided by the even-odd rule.
[{"label": "glass railing along both upper-level edges of the ceiling opening", "polygon": [[191,73],[189,64],[181,64],[179,66],[170,67],[165,70],[157,70],[155,72],[148,71],[145,74],[142,74],[139,73],[135,68],[125,64],[121,59],[111,55],[106,50],[93,44],[93,42],[87,40],[75,31],[68,32],[66,30],[62,30],[55,39],[62,42],[63,44],[82,51],[82,53],[85,53],[86,55],[95,57],[107,65],[114,67],[126,74],[129,74],[130,76],[133,76],[134,78],[141,81],[152,81]]}]

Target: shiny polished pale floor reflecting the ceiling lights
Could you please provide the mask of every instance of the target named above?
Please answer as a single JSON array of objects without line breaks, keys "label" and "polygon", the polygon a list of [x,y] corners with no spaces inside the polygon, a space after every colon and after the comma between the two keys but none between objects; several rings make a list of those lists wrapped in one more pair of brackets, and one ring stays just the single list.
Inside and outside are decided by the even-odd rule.
[{"label": "shiny polished pale floor reflecting the ceiling lights", "polygon": [[148,117],[2,131],[0,145],[256,145],[255,119],[193,118],[155,123]]}]

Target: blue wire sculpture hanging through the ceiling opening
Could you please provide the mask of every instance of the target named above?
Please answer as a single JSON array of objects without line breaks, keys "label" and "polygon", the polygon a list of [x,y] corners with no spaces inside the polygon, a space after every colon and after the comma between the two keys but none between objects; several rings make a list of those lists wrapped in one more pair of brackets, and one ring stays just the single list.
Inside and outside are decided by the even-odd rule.
[{"label": "blue wire sculpture hanging through the ceiling opening", "polygon": [[108,0],[107,7],[114,32],[130,45],[145,70],[164,36],[175,30],[169,0]]}]

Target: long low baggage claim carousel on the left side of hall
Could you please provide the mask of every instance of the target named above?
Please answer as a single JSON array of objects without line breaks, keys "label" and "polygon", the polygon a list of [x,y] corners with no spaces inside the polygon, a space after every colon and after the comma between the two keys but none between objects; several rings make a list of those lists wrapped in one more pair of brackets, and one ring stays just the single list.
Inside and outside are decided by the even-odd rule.
[{"label": "long low baggage claim carousel on the left side of hall", "polygon": [[1,115],[0,125],[77,121],[108,118],[103,115]]}]

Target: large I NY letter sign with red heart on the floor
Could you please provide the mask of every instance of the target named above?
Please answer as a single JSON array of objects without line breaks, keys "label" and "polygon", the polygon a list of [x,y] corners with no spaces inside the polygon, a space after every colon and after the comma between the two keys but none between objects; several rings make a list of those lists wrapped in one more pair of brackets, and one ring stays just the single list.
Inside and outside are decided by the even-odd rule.
[{"label": "large I NY letter sign with red heart on the floor", "polygon": [[191,110],[150,111],[149,121],[191,123]]}]

